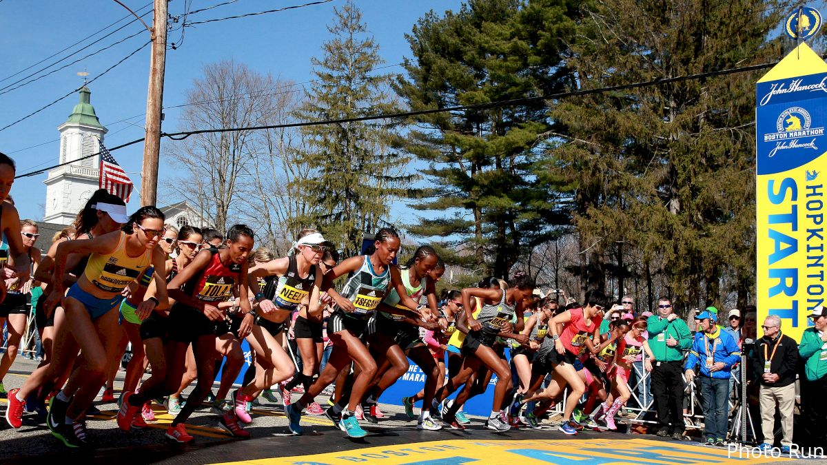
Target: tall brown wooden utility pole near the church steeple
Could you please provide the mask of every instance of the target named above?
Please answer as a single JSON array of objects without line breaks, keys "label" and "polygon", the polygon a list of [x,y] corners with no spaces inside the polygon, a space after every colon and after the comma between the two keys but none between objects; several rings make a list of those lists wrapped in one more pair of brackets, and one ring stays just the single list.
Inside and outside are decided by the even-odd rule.
[{"label": "tall brown wooden utility pole near the church steeple", "polygon": [[155,205],[158,196],[158,157],[160,153],[160,123],[164,103],[164,70],[166,65],[167,2],[155,0],[152,14],[152,55],[150,57],[150,84],[146,93],[146,139],[144,165],[141,170],[141,206]]}]

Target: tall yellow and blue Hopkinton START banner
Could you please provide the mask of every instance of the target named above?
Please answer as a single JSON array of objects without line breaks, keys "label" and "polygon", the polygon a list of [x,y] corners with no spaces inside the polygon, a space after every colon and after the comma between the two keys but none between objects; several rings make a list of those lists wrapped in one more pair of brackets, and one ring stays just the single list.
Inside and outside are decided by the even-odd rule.
[{"label": "tall yellow and blue Hopkinton START banner", "polygon": [[778,315],[796,341],[824,304],[825,126],[827,64],[801,43],[758,81],[755,112],[758,324]]}]

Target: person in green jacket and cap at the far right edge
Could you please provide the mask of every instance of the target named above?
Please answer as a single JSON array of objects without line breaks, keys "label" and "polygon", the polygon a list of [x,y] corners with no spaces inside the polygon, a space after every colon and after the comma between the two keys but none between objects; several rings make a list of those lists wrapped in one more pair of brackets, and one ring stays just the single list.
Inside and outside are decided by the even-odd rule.
[{"label": "person in green jacket and cap at the far right edge", "polygon": [[809,431],[809,445],[827,444],[827,311],[819,305],[808,315],[813,326],[801,334],[798,355],[804,360],[805,379],[801,381],[801,407]]}]

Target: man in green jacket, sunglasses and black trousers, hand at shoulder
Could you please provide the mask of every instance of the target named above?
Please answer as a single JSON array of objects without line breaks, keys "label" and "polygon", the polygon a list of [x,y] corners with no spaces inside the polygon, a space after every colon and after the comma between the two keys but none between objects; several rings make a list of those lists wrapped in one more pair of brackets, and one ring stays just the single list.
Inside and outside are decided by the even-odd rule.
[{"label": "man in green jacket, sunglasses and black trousers, hand at shoulder", "polygon": [[692,345],[692,336],[686,323],[672,312],[672,301],[657,300],[657,313],[646,321],[649,348],[655,356],[652,365],[652,395],[655,398],[658,436],[683,438],[683,351]]}]

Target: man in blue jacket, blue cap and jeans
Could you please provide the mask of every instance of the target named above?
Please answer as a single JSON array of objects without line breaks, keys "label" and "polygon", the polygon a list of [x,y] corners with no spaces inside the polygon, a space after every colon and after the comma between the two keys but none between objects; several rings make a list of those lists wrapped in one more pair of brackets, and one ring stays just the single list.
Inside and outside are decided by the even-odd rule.
[{"label": "man in blue jacket, blue cap and jeans", "polygon": [[729,376],[732,367],[741,360],[741,349],[729,333],[715,324],[715,314],[705,310],[695,319],[700,320],[700,327],[686,358],[684,375],[686,381],[691,382],[695,368],[700,366],[698,381],[704,400],[706,443],[723,446],[729,413]]}]

